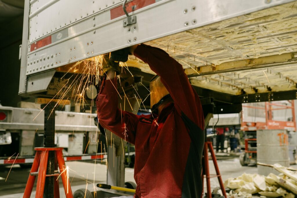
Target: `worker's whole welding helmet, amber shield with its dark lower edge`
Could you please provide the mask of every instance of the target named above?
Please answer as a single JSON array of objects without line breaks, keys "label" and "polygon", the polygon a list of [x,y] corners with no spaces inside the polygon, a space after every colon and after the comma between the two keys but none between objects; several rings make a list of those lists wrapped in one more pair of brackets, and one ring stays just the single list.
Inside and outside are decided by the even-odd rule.
[{"label": "worker's whole welding helmet, amber shield with its dark lower edge", "polygon": [[170,95],[158,75],[151,79],[149,89],[151,92],[151,111],[154,112],[163,102],[170,98]]}]

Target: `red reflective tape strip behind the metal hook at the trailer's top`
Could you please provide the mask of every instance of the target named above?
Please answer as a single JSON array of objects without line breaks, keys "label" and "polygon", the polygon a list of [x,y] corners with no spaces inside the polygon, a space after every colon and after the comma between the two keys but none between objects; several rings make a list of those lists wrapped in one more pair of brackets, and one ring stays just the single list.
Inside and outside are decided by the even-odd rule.
[{"label": "red reflective tape strip behind the metal hook at the trailer's top", "polygon": [[[126,4],[126,10],[128,13],[146,7],[150,4],[156,3],[156,0],[133,0]],[[110,19],[113,20],[120,16],[125,15],[123,6],[115,7],[110,10]]]}]

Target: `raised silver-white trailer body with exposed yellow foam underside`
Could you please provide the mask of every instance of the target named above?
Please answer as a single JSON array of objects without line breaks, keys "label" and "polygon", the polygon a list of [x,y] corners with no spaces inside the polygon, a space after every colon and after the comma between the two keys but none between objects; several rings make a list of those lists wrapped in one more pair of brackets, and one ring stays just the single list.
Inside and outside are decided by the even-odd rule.
[{"label": "raised silver-white trailer body with exposed yellow foam underside", "polygon": [[[237,103],[268,101],[271,92],[293,97],[296,1],[133,0],[129,26],[123,2],[25,1],[19,93],[46,91],[58,67],[147,42],[176,58],[192,85],[242,96]],[[128,66],[153,73],[130,59]]]}]

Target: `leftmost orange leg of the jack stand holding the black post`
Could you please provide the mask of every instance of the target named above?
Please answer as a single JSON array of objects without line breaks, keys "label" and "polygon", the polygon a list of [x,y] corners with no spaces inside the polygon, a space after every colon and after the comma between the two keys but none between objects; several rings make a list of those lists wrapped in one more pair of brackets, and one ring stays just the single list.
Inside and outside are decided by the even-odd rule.
[{"label": "leftmost orange leg of the jack stand holding the black post", "polygon": [[[39,163],[40,163],[40,154],[41,154],[40,151],[36,152],[30,173],[38,171],[38,167],[39,167]],[[29,178],[28,178],[28,181],[27,181],[27,184],[26,184],[26,188],[25,188],[23,198],[30,198],[31,192],[32,192],[32,189],[33,189],[33,185],[34,185],[34,182],[35,182],[35,178],[36,178],[35,175],[29,174]]]}]

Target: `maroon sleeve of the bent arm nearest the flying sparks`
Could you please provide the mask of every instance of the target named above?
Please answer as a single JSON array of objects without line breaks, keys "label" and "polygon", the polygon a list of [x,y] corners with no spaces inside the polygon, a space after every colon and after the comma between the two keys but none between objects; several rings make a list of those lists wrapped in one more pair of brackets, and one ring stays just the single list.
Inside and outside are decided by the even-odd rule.
[{"label": "maroon sleeve of the bent arm nearest the flying sparks", "polygon": [[118,108],[117,81],[103,80],[97,97],[97,115],[99,123],[105,128],[135,144],[136,126],[139,116]]}]

